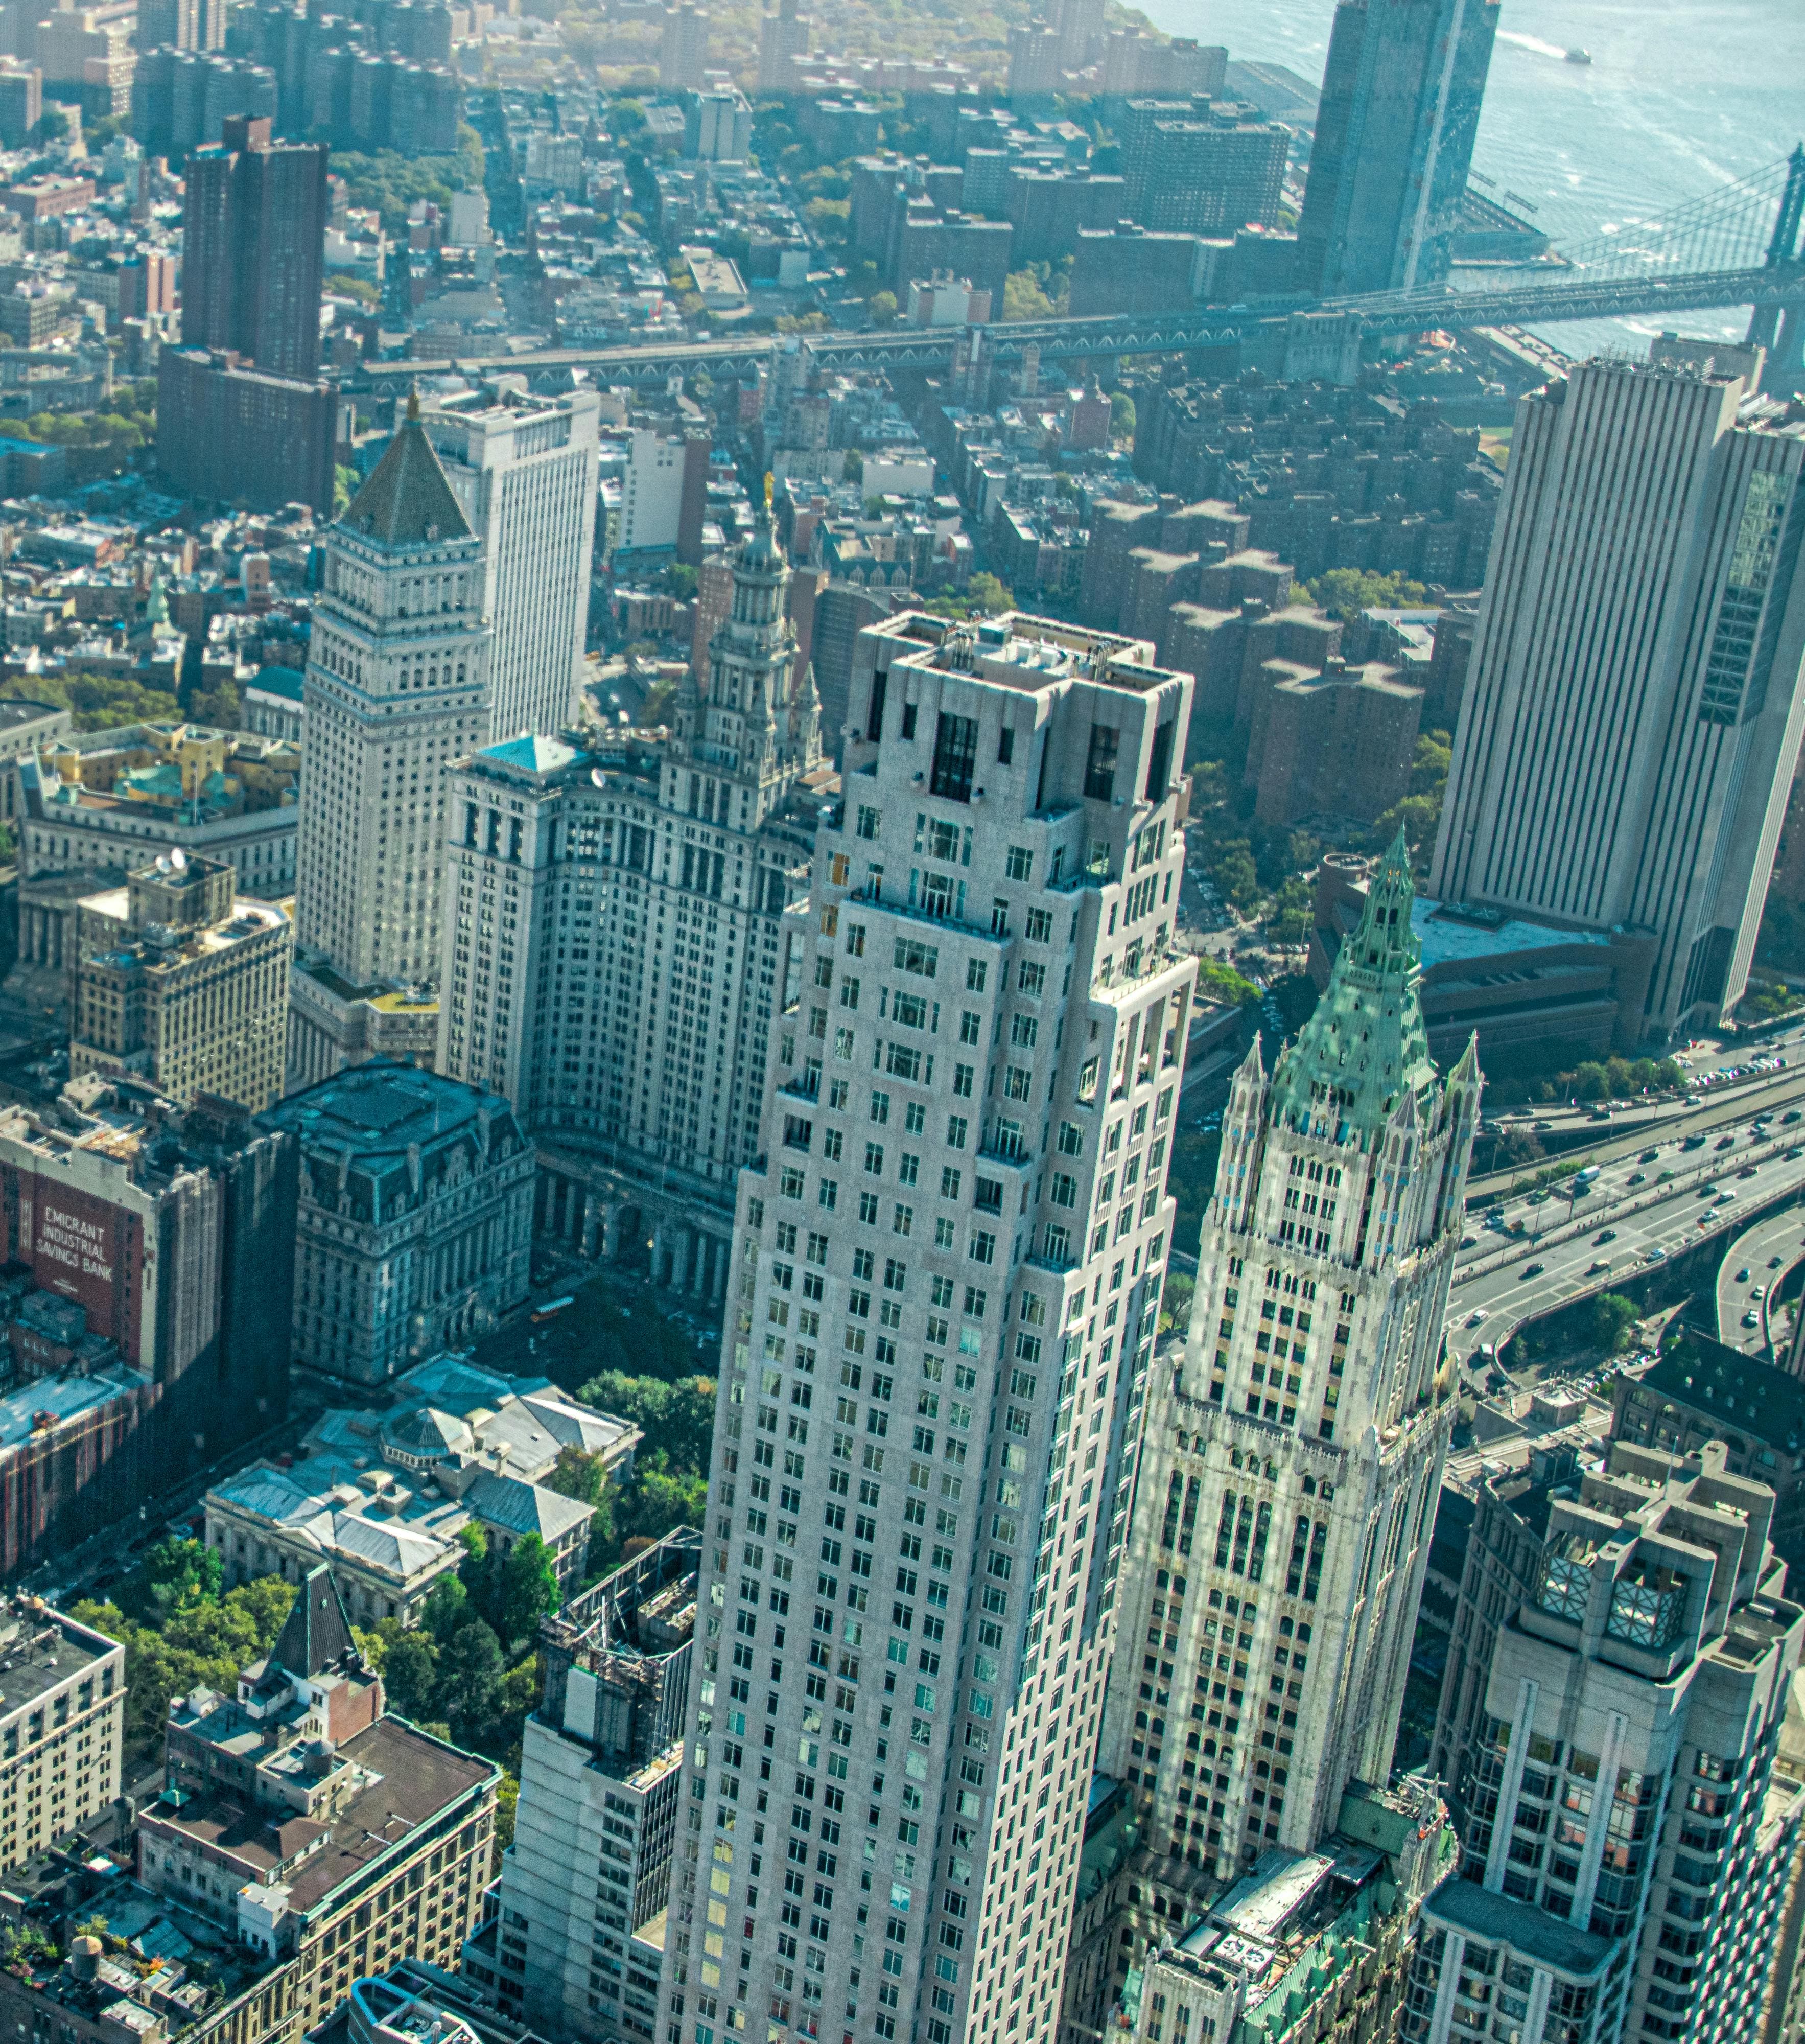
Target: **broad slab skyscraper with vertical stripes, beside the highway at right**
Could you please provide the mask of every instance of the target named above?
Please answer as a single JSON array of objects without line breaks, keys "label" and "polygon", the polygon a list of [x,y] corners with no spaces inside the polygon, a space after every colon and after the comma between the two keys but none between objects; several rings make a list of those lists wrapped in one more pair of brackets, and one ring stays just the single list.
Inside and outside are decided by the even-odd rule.
[{"label": "broad slab skyscraper with vertical stripes, beside the highway at right", "polygon": [[1631,1040],[1744,989],[1805,717],[1801,468],[1735,376],[1588,362],[1517,407],[1429,887],[1656,932]]}]

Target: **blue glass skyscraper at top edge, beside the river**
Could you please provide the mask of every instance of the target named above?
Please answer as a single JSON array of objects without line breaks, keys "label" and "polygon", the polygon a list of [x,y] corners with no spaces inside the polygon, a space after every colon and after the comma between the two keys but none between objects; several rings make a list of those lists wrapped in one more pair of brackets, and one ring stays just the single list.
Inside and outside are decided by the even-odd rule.
[{"label": "blue glass skyscraper at top edge, beside the river", "polygon": [[1323,296],[1447,276],[1498,0],[1339,0],[1298,217]]}]

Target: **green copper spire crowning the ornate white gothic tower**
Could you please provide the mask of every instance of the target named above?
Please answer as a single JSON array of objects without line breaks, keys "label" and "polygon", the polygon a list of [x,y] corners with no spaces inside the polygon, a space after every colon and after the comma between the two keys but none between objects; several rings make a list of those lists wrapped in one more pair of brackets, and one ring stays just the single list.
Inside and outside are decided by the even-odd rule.
[{"label": "green copper spire crowning the ornate white gothic tower", "polygon": [[1417,1000],[1421,953],[1410,930],[1417,887],[1404,832],[1380,861],[1366,914],[1329,987],[1271,1077],[1271,1118],[1302,1134],[1374,1141],[1402,1094],[1435,1083]]}]

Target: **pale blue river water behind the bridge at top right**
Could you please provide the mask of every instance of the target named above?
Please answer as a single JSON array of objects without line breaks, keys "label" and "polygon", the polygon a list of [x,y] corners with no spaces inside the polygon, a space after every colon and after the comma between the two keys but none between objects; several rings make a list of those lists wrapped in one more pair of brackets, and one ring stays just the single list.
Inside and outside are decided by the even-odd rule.
[{"label": "pale blue river water behind the bridge at top right", "polygon": [[[1318,84],[1333,0],[1143,0],[1167,35],[1227,43]],[[1590,65],[1564,61],[1568,47]],[[1474,170],[1556,245],[1699,198],[1805,137],[1805,0],[1505,0]],[[1740,339],[1748,313],[1680,315]],[[1545,329],[1570,354],[1641,347],[1656,321]]]}]

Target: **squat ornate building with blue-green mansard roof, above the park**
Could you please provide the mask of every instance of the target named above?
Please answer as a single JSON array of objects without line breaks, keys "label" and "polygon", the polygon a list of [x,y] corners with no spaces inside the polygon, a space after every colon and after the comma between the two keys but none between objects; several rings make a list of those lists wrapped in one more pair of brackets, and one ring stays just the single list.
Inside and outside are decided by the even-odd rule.
[{"label": "squat ornate building with blue-green mansard roof, above the park", "polygon": [[382,1384],[525,1298],[534,1153],[505,1100],[370,1059],[264,1126],[300,1145],[298,1363]]}]

